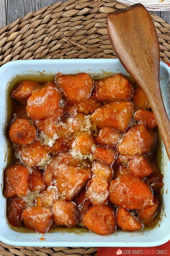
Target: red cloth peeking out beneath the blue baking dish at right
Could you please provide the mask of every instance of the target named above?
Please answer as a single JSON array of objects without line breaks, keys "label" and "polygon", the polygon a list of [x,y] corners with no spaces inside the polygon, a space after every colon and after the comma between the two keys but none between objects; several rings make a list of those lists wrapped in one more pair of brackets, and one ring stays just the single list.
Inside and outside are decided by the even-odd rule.
[{"label": "red cloth peeking out beneath the blue baking dish at right", "polygon": [[[166,63],[170,67],[170,63]],[[117,252],[117,254],[116,254]],[[118,252],[120,254],[118,254]],[[154,247],[98,247],[97,256],[114,256],[114,255],[167,255],[170,256],[170,240],[160,246]]]}]

